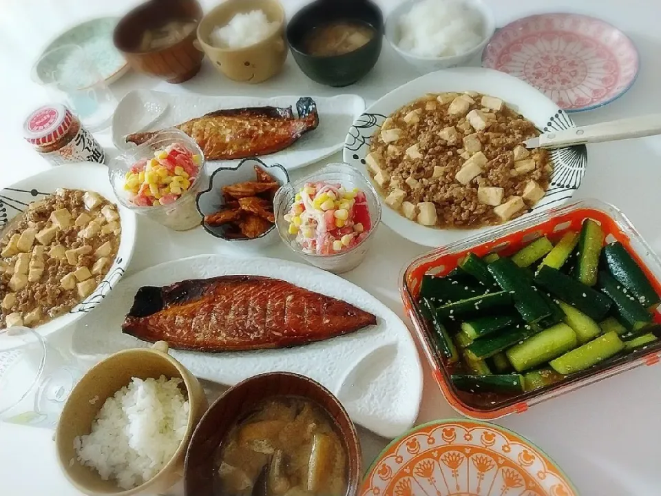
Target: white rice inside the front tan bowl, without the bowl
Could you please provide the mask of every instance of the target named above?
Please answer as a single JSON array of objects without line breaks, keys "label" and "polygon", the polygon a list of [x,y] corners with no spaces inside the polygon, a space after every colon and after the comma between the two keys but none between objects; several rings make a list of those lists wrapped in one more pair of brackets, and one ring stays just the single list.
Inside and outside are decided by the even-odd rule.
[{"label": "white rice inside the front tan bowl, without the bowl", "polygon": [[154,477],[169,462],[186,432],[190,406],[181,379],[133,378],[105,400],[90,435],[74,439],[78,461],[104,480],[130,489]]}]

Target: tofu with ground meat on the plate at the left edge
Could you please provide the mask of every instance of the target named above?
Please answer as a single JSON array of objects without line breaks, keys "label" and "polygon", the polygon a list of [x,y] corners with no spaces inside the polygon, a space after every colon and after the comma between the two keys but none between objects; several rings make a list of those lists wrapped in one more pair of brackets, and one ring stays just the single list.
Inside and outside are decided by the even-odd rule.
[{"label": "tofu with ground meat on the plate at the left edge", "polygon": [[59,189],[12,219],[0,240],[0,329],[36,327],[90,296],[117,255],[117,207]]}]

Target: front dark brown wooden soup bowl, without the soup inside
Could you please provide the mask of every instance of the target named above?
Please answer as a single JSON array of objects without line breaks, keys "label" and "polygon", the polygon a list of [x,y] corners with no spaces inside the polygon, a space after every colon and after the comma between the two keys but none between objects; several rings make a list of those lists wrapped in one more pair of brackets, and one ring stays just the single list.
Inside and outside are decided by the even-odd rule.
[{"label": "front dark brown wooden soup bowl, without the soup inside", "polygon": [[255,406],[279,396],[299,396],[322,407],[335,423],[348,462],[345,496],[355,496],[360,484],[361,453],[358,435],[344,406],[333,393],[312,379],[288,372],[255,375],[227,390],[211,405],[193,433],[186,454],[185,496],[215,496],[216,457],[232,426]]}]

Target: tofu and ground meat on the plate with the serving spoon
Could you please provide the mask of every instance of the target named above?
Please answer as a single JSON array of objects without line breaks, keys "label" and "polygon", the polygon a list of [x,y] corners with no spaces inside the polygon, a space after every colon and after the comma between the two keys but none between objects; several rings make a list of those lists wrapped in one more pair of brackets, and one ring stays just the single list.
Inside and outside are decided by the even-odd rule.
[{"label": "tofu and ground meat on the plate with the serving spoon", "polygon": [[366,164],[386,204],[410,220],[445,229],[496,225],[545,194],[549,154],[523,145],[539,134],[494,96],[428,94],[386,118]]}]

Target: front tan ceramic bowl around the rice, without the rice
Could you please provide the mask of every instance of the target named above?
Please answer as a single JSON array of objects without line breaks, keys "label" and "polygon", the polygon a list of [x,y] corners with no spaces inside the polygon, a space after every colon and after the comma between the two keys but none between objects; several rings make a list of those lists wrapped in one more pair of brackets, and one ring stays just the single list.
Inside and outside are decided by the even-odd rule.
[{"label": "front tan ceramic bowl around the rice, without the rice", "polygon": [[[190,404],[186,432],[178,448],[162,470],[144,484],[132,489],[120,488],[113,480],[103,480],[94,468],[78,462],[74,439],[87,435],[92,422],[107,398],[112,397],[132,378],[179,378],[182,391]],[[186,449],[202,414],[207,409],[207,397],[195,376],[168,354],[167,343],[159,341],[151,348],[119,351],[92,367],[76,384],[64,406],[55,431],[55,447],[59,466],[69,482],[89,496],[133,496],[162,494],[180,481]]]}]

